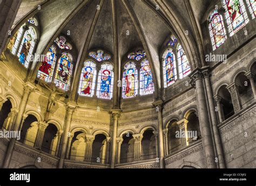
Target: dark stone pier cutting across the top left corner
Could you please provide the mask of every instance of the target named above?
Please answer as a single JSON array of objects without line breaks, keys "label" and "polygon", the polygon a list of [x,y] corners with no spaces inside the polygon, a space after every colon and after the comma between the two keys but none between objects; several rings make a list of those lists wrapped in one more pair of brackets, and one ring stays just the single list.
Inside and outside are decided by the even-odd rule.
[{"label": "dark stone pier cutting across the top left corner", "polygon": [[0,55],[8,41],[8,31],[11,30],[21,2],[22,0],[0,1]]}]

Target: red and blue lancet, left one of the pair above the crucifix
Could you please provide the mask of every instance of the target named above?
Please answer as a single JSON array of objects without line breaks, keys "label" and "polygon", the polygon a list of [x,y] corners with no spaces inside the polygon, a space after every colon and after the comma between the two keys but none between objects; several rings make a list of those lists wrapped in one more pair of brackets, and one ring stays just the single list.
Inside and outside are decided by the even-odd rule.
[{"label": "red and blue lancet, left one of the pair above the crucifix", "polygon": [[51,82],[56,59],[56,47],[52,45],[46,53],[42,65],[39,67],[37,77],[46,82]]}]

